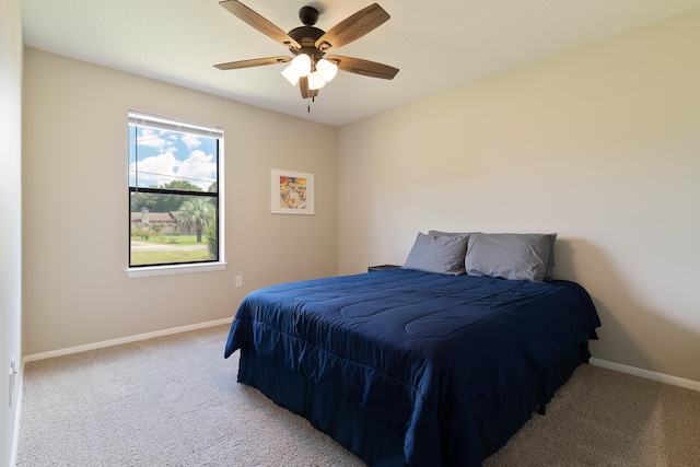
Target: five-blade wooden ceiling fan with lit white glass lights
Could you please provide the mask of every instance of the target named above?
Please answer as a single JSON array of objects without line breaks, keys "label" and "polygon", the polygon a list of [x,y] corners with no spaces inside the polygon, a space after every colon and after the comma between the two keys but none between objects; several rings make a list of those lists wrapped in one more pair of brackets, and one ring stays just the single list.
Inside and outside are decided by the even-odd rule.
[{"label": "five-blade wooden ceiling fan with lit white glass lights", "polygon": [[291,61],[289,67],[282,71],[282,75],[292,85],[296,85],[299,82],[303,98],[317,96],[318,90],[332,80],[338,70],[385,80],[390,80],[398,73],[398,68],[361,58],[339,55],[324,58],[327,52],[359,39],[389,19],[389,14],[376,3],[351,14],[328,32],[314,27],[318,20],[318,10],[313,7],[302,7],[299,10],[299,19],[304,25],[295,27],[289,33],[280,30],[237,0],[224,0],[219,4],[248,25],[289,48],[294,56],[293,58],[288,56],[254,58],[214,65],[220,70]]}]

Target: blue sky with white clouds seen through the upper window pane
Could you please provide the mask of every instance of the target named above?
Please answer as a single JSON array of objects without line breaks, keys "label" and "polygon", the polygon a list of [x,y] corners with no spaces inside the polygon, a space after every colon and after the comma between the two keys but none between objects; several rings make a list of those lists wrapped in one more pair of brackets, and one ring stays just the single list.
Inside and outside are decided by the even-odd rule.
[{"label": "blue sky with white clouds seen through the upper window pane", "polygon": [[[129,125],[129,185],[139,187],[184,179],[202,190],[217,179],[217,139]],[[138,150],[138,151],[137,151]]]}]

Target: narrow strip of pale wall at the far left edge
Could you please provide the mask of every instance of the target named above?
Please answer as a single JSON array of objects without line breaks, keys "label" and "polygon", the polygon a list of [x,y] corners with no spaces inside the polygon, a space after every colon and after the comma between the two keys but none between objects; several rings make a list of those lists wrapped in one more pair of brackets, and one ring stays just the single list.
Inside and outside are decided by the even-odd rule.
[{"label": "narrow strip of pale wall at the far left edge", "polygon": [[[22,361],[22,20],[20,1],[0,2],[0,465],[11,464],[19,408],[10,361]],[[19,377],[19,374],[18,376]],[[15,378],[16,378],[15,377]]]}]

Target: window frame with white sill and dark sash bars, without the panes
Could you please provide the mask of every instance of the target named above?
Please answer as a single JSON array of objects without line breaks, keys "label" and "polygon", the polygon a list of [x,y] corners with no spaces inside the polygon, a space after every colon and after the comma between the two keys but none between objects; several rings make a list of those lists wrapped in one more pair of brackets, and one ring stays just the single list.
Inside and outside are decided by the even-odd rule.
[{"label": "window frame with white sill and dark sash bars, without the panes", "polygon": [[[177,189],[164,189],[164,188],[153,188],[153,187],[138,187],[138,183],[136,186],[131,185],[131,177],[129,175],[129,165],[130,157],[129,151],[127,150],[127,187],[129,194],[129,203],[128,203],[128,256],[127,256],[127,268],[125,270],[126,275],[129,278],[141,278],[141,277],[154,277],[154,276],[167,276],[167,275],[179,275],[179,273],[191,273],[191,272],[208,272],[208,271],[219,271],[226,268],[225,262],[225,252],[224,252],[224,133],[223,128],[219,126],[213,126],[209,124],[201,124],[191,120],[184,120],[182,118],[166,117],[155,114],[148,114],[139,110],[128,110],[128,125],[127,125],[127,135],[130,135],[130,127],[139,127],[141,128],[151,128],[155,130],[166,130],[174,131],[180,133],[190,133],[197,135],[206,138],[214,138],[217,139],[217,192],[211,194],[210,191],[188,191],[188,190],[177,190]],[[138,130],[136,131],[138,135]],[[128,144],[131,144],[129,141],[129,136],[127,136]],[[162,264],[162,265],[143,265],[143,266],[131,266],[131,195],[133,192],[151,192],[156,195],[180,195],[180,196],[195,196],[195,197],[206,197],[206,198],[215,198],[217,199],[217,242],[218,242],[218,259],[211,260],[201,260],[201,261],[191,261],[191,262],[174,262],[174,264]]]}]

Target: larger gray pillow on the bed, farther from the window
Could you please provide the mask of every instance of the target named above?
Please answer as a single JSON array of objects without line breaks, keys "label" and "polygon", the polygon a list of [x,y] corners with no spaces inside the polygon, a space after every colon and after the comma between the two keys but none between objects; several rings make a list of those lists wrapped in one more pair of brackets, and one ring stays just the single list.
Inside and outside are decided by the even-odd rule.
[{"label": "larger gray pillow on the bed, farther from the window", "polygon": [[474,234],[465,268],[470,276],[542,282],[550,261],[553,266],[555,238],[556,234]]}]

